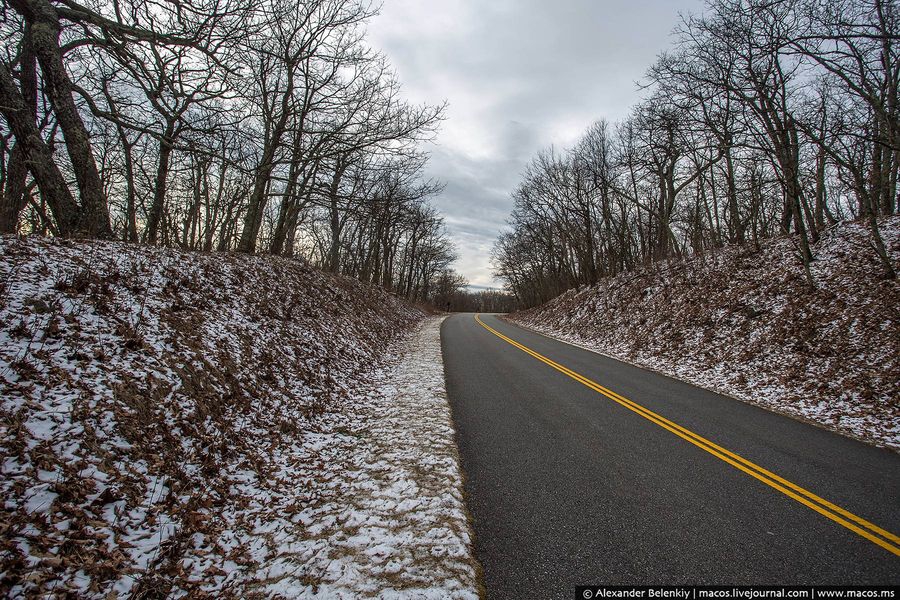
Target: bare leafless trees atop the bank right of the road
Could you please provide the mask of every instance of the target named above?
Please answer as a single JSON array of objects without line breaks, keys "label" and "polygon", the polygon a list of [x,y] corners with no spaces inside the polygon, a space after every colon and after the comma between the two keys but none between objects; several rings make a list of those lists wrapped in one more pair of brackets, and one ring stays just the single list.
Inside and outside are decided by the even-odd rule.
[{"label": "bare leafless trees atop the bank right of the road", "polygon": [[647,99],[540,153],[497,241],[527,306],[639,265],[792,233],[811,244],[897,210],[900,14],[891,0],[708,0],[647,76]]}]

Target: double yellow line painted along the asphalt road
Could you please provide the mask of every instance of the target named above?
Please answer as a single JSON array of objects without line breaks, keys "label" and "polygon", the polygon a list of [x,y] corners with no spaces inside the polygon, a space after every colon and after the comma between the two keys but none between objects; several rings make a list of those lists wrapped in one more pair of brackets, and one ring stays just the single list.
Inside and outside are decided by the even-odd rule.
[{"label": "double yellow line painted along the asphalt road", "polygon": [[594,381],[591,381],[587,377],[580,375],[580,374],[576,373],[575,371],[573,371],[567,367],[564,367],[563,365],[561,365],[553,360],[550,360],[546,356],[543,356],[542,354],[538,354],[531,348],[528,348],[527,346],[520,344],[519,342],[515,341],[514,339],[503,335],[502,333],[500,333],[493,327],[490,327],[484,321],[482,321],[478,315],[475,315],[475,320],[482,327],[484,327],[485,329],[487,329],[488,331],[490,331],[491,333],[493,333],[500,339],[504,340],[505,342],[512,344],[513,346],[515,346],[522,352],[525,352],[526,354],[538,359],[542,363],[553,367],[560,373],[568,375],[575,381],[581,383],[582,385],[589,387],[590,389],[594,390],[595,392],[597,392],[599,394],[602,394],[603,396],[606,396],[613,402],[621,404],[628,410],[630,410],[634,413],[637,413],[638,415],[644,417],[648,421],[655,423],[656,425],[659,425],[666,431],[669,431],[669,432],[677,435],[681,439],[683,439],[687,442],[690,442],[691,444],[697,446],[704,452],[708,452],[708,453],[712,454],[719,460],[722,460],[722,461],[728,463],[735,469],[743,471],[744,473],[746,473],[747,475],[750,475],[754,479],[758,479],[759,481],[763,482],[767,486],[778,490],[785,496],[788,496],[789,498],[796,500],[800,504],[803,504],[804,506],[807,506],[807,507],[813,509],[820,515],[831,519],[835,523],[843,525],[850,531],[852,531],[858,535],[861,535],[862,537],[866,538],[867,540],[869,540],[870,542],[872,542],[874,544],[881,546],[882,548],[884,548],[888,552],[894,554],[895,556],[900,556],[900,537],[894,535],[890,531],[886,531],[886,530],[882,529],[881,527],[878,527],[874,523],[870,523],[869,521],[866,521],[862,517],[854,515],[850,511],[844,510],[840,506],[837,506],[837,505],[829,502],[828,500],[825,500],[824,498],[820,498],[816,494],[813,494],[812,492],[800,487],[799,485],[792,483],[792,482],[788,481],[787,479],[784,479],[783,477],[780,477],[780,476],[776,475],[775,473],[772,473],[771,471],[768,471],[768,470],[762,468],[761,466],[747,460],[746,458],[744,458],[742,456],[735,454],[734,452],[731,452],[729,450],[726,450],[725,448],[722,448],[721,446],[719,446],[717,444],[714,444],[713,442],[709,441],[708,439],[706,439],[700,435],[697,435],[693,431],[691,431],[685,427],[682,427],[681,425],[678,425],[677,423],[674,423],[674,422],[670,421],[669,419],[666,419],[665,417],[653,412],[652,410],[650,410],[648,408],[641,406],[637,402],[633,402],[633,401],[629,400],[628,398],[626,398],[620,394],[617,394],[616,392],[614,392],[610,389],[607,389]]}]

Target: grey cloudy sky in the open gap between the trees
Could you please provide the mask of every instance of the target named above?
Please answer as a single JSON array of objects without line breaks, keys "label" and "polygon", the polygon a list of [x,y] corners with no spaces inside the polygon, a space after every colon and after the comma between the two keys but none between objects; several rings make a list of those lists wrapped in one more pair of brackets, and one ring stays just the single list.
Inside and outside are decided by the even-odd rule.
[{"label": "grey cloudy sky in the open gap between the trees", "polygon": [[541,148],[573,143],[594,120],[616,121],[669,46],[679,14],[701,0],[383,0],[369,40],[413,102],[449,102],[428,175],[433,200],[478,286],[512,209],[510,192]]}]

